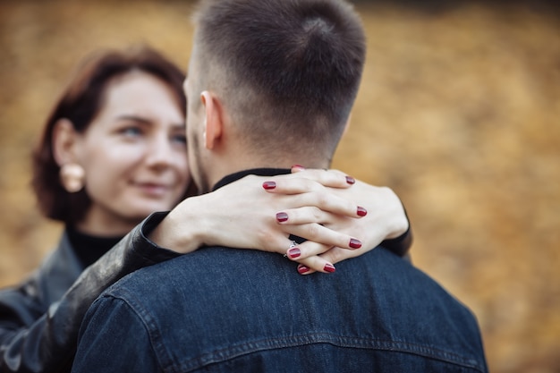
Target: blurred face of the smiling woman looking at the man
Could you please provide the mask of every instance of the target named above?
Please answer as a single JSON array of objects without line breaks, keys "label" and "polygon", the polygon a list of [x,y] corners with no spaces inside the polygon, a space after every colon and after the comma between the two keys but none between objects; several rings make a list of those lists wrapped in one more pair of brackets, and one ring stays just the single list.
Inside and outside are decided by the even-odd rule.
[{"label": "blurred face of the smiling woman looking at the man", "polygon": [[85,232],[127,232],[173,208],[191,182],[182,111],[173,91],[145,72],[109,83],[75,149],[92,201],[78,225]]}]

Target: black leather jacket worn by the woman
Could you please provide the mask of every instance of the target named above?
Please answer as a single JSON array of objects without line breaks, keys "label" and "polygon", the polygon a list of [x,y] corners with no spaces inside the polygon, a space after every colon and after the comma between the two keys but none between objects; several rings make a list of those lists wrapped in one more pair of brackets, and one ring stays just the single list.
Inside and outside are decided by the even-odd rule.
[{"label": "black leather jacket worn by the woman", "polygon": [[147,219],[85,269],[64,233],[26,281],[0,291],[0,372],[70,371],[81,319],[98,295],[140,267],[179,255],[151,244],[142,234],[148,225]]}]

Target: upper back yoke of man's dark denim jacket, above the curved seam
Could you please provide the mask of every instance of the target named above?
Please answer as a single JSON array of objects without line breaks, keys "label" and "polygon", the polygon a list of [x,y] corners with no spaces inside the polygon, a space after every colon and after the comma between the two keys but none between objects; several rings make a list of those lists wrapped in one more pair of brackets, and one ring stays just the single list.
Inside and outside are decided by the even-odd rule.
[{"label": "upper back yoke of man's dark denim jacket, above the curved seam", "polygon": [[[279,254],[204,248],[136,271],[106,295],[133,309],[150,335],[165,330],[165,343],[190,346],[184,356],[343,343],[467,365],[484,359],[470,310],[380,248],[311,276]],[[268,345],[271,336],[278,345]]]}]

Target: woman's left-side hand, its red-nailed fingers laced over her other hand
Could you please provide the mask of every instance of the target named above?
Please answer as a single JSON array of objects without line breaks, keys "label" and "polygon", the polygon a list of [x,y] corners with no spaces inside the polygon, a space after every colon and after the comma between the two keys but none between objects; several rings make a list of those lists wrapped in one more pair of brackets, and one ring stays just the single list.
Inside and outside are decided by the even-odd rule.
[{"label": "woman's left-side hand, its red-nailed fingers laced over her other hand", "polygon": [[[365,209],[333,192],[351,188],[353,182],[340,172],[322,170],[272,177],[249,175],[183,200],[149,238],[181,253],[219,245],[284,254],[292,242],[290,234],[328,247],[356,248],[361,243],[355,237],[320,225],[325,216],[354,220],[366,214]],[[283,211],[296,214],[304,223],[279,224]],[[327,264],[332,267],[327,260],[317,259],[313,268],[325,270]]]}]

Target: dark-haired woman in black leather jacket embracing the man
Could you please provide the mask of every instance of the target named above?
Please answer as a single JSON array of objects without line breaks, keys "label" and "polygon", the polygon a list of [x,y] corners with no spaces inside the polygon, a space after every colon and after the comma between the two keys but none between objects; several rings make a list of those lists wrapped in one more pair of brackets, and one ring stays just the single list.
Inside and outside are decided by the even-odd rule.
[{"label": "dark-haired woman in black leather jacket embracing the man", "polygon": [[[138,229],[135,226],[150,213],[169,210],[194,195],[188,191],[191,178],[182,81],[184,76],[174,64],[149,48],[140,48],[94,55],[65,89],[35,152],[33,179],[41,210],[47,217],[64,222],[65,230],[58,248],[30,278],[0,292],[1,371],[69,369],[81,318],[98,294],[140,267],[179,255],[165,249],[134,250],[130,244],[133,235],[125,234]],[[258,180],[262,183],[270,178]],[[365,213],[365,209],[337,197],[325,198],[323,185],[347,188],[353,182],[342,174],[303,171],[275,180],[275,193],[308,193],[306,204],[323,208],[322,221],[342,222],[347,219],[340,218],[341,214],[360,217]],[[228,188],[248,193],[247,182],[255,181],[243,180]],[[301,225],[262,223],[263,214],[274,216],[278,211],[279,205],[269,202],[277,201],[279,194],[253,194],[253,206],[259,206],[259,214],[250,206],[230,209],[228,199],[219,195],[197,214],[211,210],[230,220],[250,221],[247,225],[253,227],[260,224],[260,232],[267,237],[288,240],[287,236],[294,233],[317,242],[316,246],[309,242],[307,254],[300,258],[310,271],[325,272],[327,259],[316,254],[332,246],[351,246],[340,243],[350,242],[352,236],[348,234],[326,229],[318,236],[307,235],[317,230],[306,227],[320,223],[312,219]],[[292,199],[282,199],[288,200]],[[282,208],[293,213],[293,208],[304,207],[286,202]],[[387,210],[387,215],[403,221],[398,208]],[[251,237],[256,233],[222,226],[229,246],[259,246],[259,237]],[[332,226],[344,231],[342,223]],[[396,236],[407,226],[406,221],[398,228],[384,228],[380,237]],[[402,244],[403,237],[410,235],[394,241],[396,249],[408,249],[408,244]],[[251,239],[257,243],[251,243]],[[368,237],[364,243],[373,247],[379,241],[377,236]],[[274,245],[269,249],[287,249],[280,240]],[[193,249],[184,248],[182,252]],[[340,253],[336,257],[344,259]]]}]

